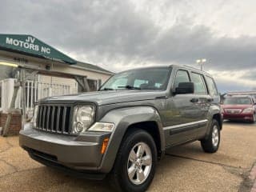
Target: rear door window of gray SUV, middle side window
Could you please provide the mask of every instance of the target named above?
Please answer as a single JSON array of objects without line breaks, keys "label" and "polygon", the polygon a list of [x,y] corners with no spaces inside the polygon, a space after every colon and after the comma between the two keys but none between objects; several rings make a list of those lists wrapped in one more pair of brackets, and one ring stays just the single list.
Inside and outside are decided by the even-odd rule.
[{"label": "rear door window of gray SUV, middle side window", "polygon": [[206,84],[202,74],[191,73],[191,81],[194,82],[194,94],[207,94]]}]

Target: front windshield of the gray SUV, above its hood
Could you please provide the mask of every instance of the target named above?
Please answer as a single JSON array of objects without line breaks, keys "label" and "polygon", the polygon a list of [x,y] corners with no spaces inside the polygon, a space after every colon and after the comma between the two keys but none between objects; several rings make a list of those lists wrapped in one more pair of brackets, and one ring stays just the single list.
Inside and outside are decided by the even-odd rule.
[{"label": "front windshield of the gray SUV, above its hood", "polygon": [[170,67],[128,70],[112,76],[100,90],[166,90]]}]

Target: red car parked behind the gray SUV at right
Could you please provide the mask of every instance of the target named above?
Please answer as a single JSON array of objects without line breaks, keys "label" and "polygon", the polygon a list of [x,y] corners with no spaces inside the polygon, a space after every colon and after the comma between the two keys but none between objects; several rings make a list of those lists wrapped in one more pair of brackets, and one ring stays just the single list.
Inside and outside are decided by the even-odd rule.
[{"label": "red car parked behind the gray SUV at right", "polygon": [[256,121],[256,102],[252,96],[232,95],[225,98],[222,118],[228,120]]}]

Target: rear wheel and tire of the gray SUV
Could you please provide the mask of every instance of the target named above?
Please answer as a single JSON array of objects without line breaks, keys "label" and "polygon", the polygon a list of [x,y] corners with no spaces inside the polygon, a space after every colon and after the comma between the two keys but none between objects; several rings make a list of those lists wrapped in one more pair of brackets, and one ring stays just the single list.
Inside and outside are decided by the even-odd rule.
[{"label": "rear wheel and tire of the gray SUV", "polygon": [[[217,134],[216,134],[216,131],[217,131]],[[215,134],[213,134],[213,132]],[[213,139],[214,135],[218,136],[218,142],[217,142],[217,139]],[[213,119],[213,122],[210,126],[210,134],[208,135],[207,138],[201,141],[202,150],[204,150],[206,153],[215,153],[218,150],[220,141],[221,141],[220,128],[219,128],[218,122],[215,119]]]}]

